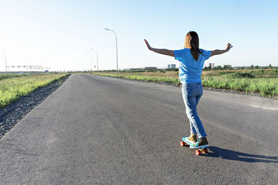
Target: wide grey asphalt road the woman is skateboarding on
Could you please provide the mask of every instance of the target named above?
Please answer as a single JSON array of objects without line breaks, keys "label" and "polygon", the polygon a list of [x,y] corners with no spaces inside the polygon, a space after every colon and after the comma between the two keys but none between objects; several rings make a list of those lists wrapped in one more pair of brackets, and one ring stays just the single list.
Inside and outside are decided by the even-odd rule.
[{"label": "wide grey asphalt road the woman is skateboarding on", "polygon": [[278,184],[278,101],[204,91],[209,153],[181,147],[181,88],[73,74],[0,140],[0,184]]}]

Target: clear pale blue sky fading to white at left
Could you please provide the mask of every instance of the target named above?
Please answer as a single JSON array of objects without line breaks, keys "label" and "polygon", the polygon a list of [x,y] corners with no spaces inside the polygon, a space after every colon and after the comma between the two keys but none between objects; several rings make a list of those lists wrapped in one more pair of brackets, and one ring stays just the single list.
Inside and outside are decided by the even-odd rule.
[{"label": "clear pale blue sky fading to white at left", "polygon": [[[206,61],[215,65],[278,65],[278,1],[71,1],[1,0],[0,47],[9,65],[43,65],[51,70],[166,67],[177,61],[147,50],[181,49],[186,33],[199,34],[200,47],[227,54]],[[5,70],[0,49],[0,71]],[[94,70],[94,68],[93,68]]]}]

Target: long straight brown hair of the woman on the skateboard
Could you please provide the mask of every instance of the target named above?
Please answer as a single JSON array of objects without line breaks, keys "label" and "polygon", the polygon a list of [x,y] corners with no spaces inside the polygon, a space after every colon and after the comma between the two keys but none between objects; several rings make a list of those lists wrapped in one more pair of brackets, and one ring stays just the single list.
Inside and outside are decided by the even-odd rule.
[{"label": "long straight brown hair of the woman on the skateboard", "polygon": [[202,51],[200,51],[200,49],[199,49],[199,37],[195,31],[189,31],[186,34],[186,40],[184,42],[184,47],[190,49],[190,53],[192,54],[195,61],[199,60],[199,54],[202,54]]}]

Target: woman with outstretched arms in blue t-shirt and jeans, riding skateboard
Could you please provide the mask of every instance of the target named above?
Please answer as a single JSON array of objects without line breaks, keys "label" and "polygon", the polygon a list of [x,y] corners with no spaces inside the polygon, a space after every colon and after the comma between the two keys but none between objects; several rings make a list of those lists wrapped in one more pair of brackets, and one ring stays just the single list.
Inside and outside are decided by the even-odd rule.
[{"label": "woman with outstretched arms in blue t-shirt and jeans, riding skateboard", "polygon": [[[184,137],[183,140],[191,143],[190,148],[208,147],[206,131],[197,114],[197,104],[203,95],[201,75],[204,61],[211,56],[226,53],[233,46],[228,43],[226,49],[223,50],[206,51],[199,49],[199,37],[195,31],[186,34],[184,49],[180,50],[156,49],[150,47],[147,40],[145,43],[149,50],[158,54],[174,56],[179,61],[179,79],[182,84],[183,102],[186,105],[186,115],[190,121],[190,136]],[[197,136],[199,140],[197,140]]]}]

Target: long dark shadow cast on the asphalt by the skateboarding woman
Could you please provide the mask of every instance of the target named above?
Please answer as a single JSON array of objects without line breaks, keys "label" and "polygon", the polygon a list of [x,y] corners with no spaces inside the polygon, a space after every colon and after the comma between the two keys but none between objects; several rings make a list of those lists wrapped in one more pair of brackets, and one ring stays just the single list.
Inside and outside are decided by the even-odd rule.
[{"label": "long dark shadow cast on the asphalt by the skateboarding woman", "polygon": [[248,163],[278,163],[278,156],[263,156],[247,154],[243,152],[236,152],[233,150],[227,150],[220,147],[209,147],[209,157],[220,157],[222,159],[228,159],[233,161],[243,161]]}]

